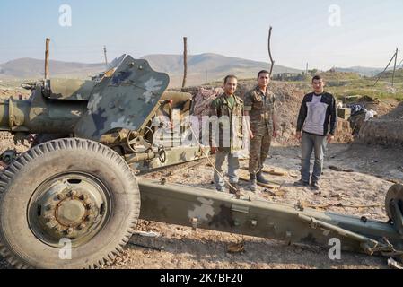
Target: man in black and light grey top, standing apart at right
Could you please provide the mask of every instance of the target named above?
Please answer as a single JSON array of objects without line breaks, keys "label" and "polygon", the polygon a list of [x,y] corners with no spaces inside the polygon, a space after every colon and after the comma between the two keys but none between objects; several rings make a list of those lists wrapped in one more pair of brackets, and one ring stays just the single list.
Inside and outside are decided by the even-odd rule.
[{"label": "man in black and light grey top, standing apart at right", "polygon": [[[305,95],[298,116],[296,138],[302,140],[301,179],[296,186],[319,190],[318,182],[323,170],[327,143],[334,139],[337,128],[336,100],[324,91],[325,82],[319,75],[312,79],[313,92]],[[310,173],[311,153],[315,154],[313,172]]]}]

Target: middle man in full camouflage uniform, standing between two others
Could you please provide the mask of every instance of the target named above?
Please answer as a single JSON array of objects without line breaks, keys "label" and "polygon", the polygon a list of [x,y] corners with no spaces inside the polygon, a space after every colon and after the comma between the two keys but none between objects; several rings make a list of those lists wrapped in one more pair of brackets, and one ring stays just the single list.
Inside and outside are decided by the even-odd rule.
[{"label": "middle man in full camouflage uniform, standing between two others", "polygon": [[262,169],[272,136],[276,136],[275,95],[267,90],[270,74],[258,73],[258,85],[245,95],[245,115],[250,117],[250,189],[256,191],[257,182],[268,184]]}]

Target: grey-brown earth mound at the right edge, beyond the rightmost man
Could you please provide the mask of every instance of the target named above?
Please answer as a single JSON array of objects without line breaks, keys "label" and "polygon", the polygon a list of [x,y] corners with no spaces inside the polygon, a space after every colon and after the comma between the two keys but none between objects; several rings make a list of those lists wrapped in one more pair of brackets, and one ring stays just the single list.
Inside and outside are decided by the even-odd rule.
[{"label": "grey-brown earth mound at the right edge, beyond the rightmost man", "polygon": [[403,102],[389,114],[364,122],[360,130],[360,141],[403,145]]}]

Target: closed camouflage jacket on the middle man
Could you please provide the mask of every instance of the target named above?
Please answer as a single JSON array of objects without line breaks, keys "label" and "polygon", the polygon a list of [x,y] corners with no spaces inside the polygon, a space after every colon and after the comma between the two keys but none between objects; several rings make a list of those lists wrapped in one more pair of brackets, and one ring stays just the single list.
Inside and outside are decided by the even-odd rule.
[{"label": "closed camouflage jacket on the middle man", "polygon": [[266,91],[266,97],[259,87],[245,95],[245,111],[250,114],[250,129],[253,134],[270,134],[273,130],[276,97],[273,92]]}]

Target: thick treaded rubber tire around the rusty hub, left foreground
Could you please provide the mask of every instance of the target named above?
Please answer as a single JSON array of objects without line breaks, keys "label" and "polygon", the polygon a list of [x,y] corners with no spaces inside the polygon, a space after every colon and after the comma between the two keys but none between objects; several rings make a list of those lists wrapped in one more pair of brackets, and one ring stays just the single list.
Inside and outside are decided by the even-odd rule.
[{"label": "thick treaded rubber tire around the rusty hub, left foreground", "polygon": [[[110,219],[87,243],[59,258],[31,232],[27,209],[34,190],[57,173],[92,174],[109,189]],[[0,176],[0,254],[17,268],[97,268],[123,250],[136,228],[140,193],[132,170],[101,143],[65,138],[39,144],[22,153]]]}]

